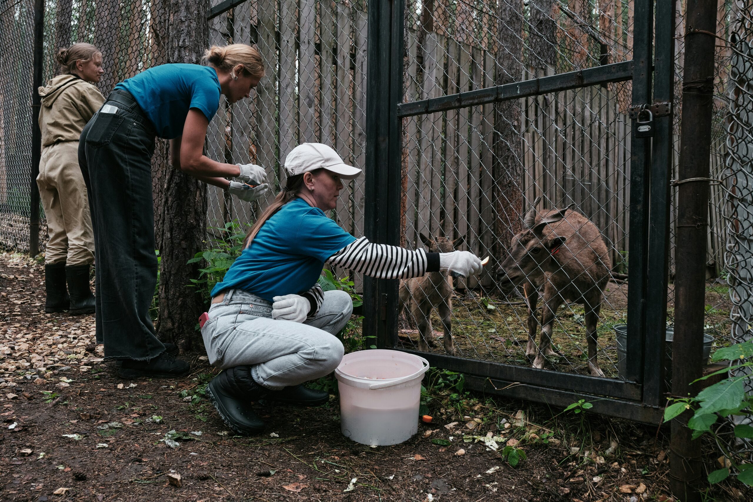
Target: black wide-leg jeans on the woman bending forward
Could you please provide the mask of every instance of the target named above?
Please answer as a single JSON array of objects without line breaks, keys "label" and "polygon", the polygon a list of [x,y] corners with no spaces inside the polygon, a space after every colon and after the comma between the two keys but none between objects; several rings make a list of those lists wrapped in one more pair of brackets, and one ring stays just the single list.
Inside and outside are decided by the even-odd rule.
[{"label": "black wide-leg jeans on the woman bending forward", "polygon": [[[113,106],[116,113],[104,112]],[[78,147],[94,230],[96,339],[108,359],[146,361],[165,349],[149,316],[157,284],[152,154],[151,122],[130,93],[112,91]]]}]

